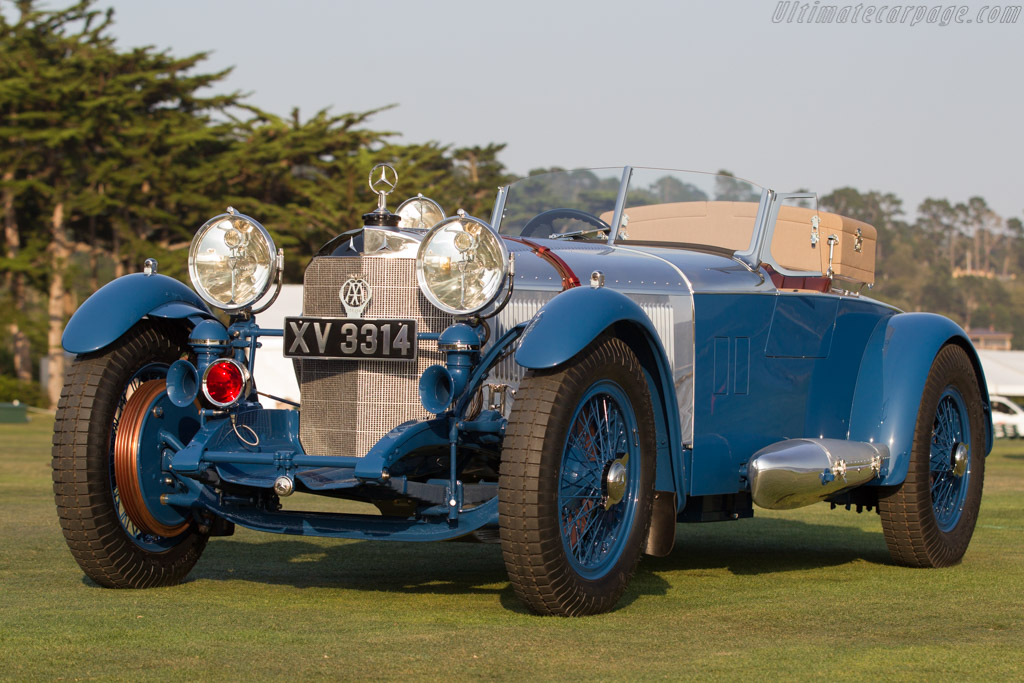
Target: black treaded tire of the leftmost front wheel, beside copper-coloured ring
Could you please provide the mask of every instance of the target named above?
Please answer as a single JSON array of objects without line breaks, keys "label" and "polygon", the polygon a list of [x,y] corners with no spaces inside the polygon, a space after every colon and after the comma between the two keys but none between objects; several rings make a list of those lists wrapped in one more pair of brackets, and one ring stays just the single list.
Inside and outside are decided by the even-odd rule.
[{"label": "black treaded tire of the leftmost front wheel, beside copper-coloured ring", "polygon": [[78,356],[60,393],[53,495],[72,555],[100,586],[178,584],[206,547],[208,536],[194,521],[166,539],[134,528],[118,502],[114,476],[115,419],[128,393],[143,380],[165,376],[186,348],[184,342],[180,327],[141,321],[111,346]]}]

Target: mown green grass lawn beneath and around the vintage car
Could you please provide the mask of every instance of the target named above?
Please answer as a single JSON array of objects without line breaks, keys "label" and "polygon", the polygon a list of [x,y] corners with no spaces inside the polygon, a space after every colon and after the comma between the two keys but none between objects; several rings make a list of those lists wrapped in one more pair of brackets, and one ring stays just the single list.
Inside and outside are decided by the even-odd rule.
[{"label": "mown green grass lawn beneath and around the vintage car", "polygon": [[185,584],[114,591],[60,535],[51,423],[0,425],[0,678],[1024,677],[1024,441],[989,458],[964,562],[889,562],[878,516],[819,505],[681,525],[611,613],[524,612],[498,546],[239,529]]}]

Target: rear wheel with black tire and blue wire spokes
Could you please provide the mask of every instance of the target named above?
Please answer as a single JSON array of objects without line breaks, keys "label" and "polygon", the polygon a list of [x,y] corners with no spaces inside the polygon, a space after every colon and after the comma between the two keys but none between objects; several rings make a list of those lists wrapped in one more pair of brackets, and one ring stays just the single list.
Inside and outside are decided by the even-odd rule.
[{"label": "rear wheel with black tire and blue wire spokes", "polygon": [[[940,567],[964,557],[985,477],[981,400],[967,352],[955,344],[942,347],[921,396],[906,479],[879,496],[882,528],[895,562]],[[959,459],[957,476],[955,447],[963,442],[968,455]]]}]

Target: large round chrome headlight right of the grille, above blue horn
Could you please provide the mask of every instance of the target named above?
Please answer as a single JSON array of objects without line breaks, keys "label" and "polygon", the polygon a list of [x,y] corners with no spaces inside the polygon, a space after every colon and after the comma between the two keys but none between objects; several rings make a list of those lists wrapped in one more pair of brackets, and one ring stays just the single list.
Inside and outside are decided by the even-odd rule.
[{"label": "large round chrome headlight right of the grille, above blue horn", "polygon": [[509,271],[509,252],[494,228],[460,210],[437,223],[416,255],[416,279],[441,310],[469,315],[498,297]]}]

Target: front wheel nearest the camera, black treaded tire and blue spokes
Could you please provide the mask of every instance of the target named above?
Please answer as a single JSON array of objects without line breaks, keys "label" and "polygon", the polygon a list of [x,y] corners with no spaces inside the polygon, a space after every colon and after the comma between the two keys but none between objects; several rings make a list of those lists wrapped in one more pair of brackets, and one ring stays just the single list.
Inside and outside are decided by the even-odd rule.
[{"label": "front wheel nearest the camera, black treaded tire and blue spokes", "polygon": [[[591,429],[590,407],[599,404],[613,419]],[[570,447],[570,431],[578,424],[575,437],[583,434],[587,443],[577,440]],[[617,435],[618,445],[603,452],[630,454],[625,463],[597,453],[602,451],[595,439],[599,432]],[[582,445],[594,455],[583,453]],[[621,340],[596,342],[557,371],[526,373],[502,452],[499,512],[509,581],[530,610],[575,616],[604,612],[618,602],[650,526],[654,458],[647,383]],[[617,494],[608,484],[614,463],[625,472],[618,502],[612,502]],[[588,503],[585,499],[595,496],[587,492],[597,494],[596,486],[612,498]],[[570,495],[573,489],[579,495]],[[563,514],[571,519],[564,525]]]}]

